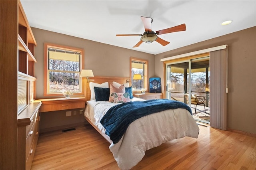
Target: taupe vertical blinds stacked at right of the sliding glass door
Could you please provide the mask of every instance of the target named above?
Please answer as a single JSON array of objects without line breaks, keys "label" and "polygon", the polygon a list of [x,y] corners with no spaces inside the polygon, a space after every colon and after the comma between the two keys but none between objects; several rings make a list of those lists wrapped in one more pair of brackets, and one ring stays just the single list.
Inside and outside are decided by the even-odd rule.
[{"label": "taupe vertical blinds stacked at right of the sliding glass door", "polygon": [[227,130],[227,49],[210,52],[210,126]]}]

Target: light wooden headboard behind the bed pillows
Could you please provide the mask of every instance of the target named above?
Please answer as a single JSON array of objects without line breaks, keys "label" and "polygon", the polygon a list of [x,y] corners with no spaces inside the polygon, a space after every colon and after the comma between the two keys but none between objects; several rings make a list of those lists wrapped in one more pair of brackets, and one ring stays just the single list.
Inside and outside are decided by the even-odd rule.
[{"label": "light wooden headboard behind the bed pillows", "polygon": [[[103,76],[95,76],[95,77],[91,77],[91,78],[94,80],[94,81],[91,81],[91,82],[98,83],[98,84],[101,84],[101,83],[104,83],[104,82],[108,82],[108,85],[109,85],[113,81],[115,81],[117,83],[120,83],[120,84],[124,84],[124,83],[127,83],[127,82],[130,83],[130,77],[103,77]],[[88,100],[90,100],[91,99],[90,86],[89,86],[89,83],[87,82],[86,78],[85,78],[84,81],[86,81],[86,91],[85,91],[86,98]]]}]

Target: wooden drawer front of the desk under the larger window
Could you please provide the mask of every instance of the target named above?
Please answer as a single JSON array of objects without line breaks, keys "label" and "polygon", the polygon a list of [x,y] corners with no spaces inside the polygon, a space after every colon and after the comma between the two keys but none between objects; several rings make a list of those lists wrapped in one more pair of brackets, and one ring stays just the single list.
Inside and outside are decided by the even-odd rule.
[{"label": "wooden drawer front of the desk under the larger window", "polygon": [[60,111],[60,110],[68,110],[68,109],[78,109],[78,108],[84,108],[84,107],[85,107],[84,101],[56,103],[56,104],[42,105],[40,107],[40,111],[41,112],[50,112],[50,111]]}]

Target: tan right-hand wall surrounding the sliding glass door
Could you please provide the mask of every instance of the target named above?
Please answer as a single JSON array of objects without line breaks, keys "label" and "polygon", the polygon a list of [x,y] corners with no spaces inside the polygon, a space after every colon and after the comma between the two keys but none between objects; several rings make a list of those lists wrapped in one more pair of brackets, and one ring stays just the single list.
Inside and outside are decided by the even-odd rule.
[{"label": "tan right-hand wall surrounding the sliding glass door", "polygon": [[158,54],[156,76],[164,80],[162,58],[224,44],[228,45],[228,128],[256,134],[256,27]]}]

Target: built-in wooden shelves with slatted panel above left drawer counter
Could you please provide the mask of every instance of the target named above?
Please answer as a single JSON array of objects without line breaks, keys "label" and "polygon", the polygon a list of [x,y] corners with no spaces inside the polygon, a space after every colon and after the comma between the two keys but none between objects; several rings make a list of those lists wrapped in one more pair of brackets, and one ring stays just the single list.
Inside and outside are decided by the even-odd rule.
[{"label": "built-in wooden shelves with slatted panel above left drawer counter", "polygon": [[34,57],[36,40],[20,1],[18,7],[18,110],[21,111],[24,103],[29,105],[36,98],[34,64],[37,61]]}]

